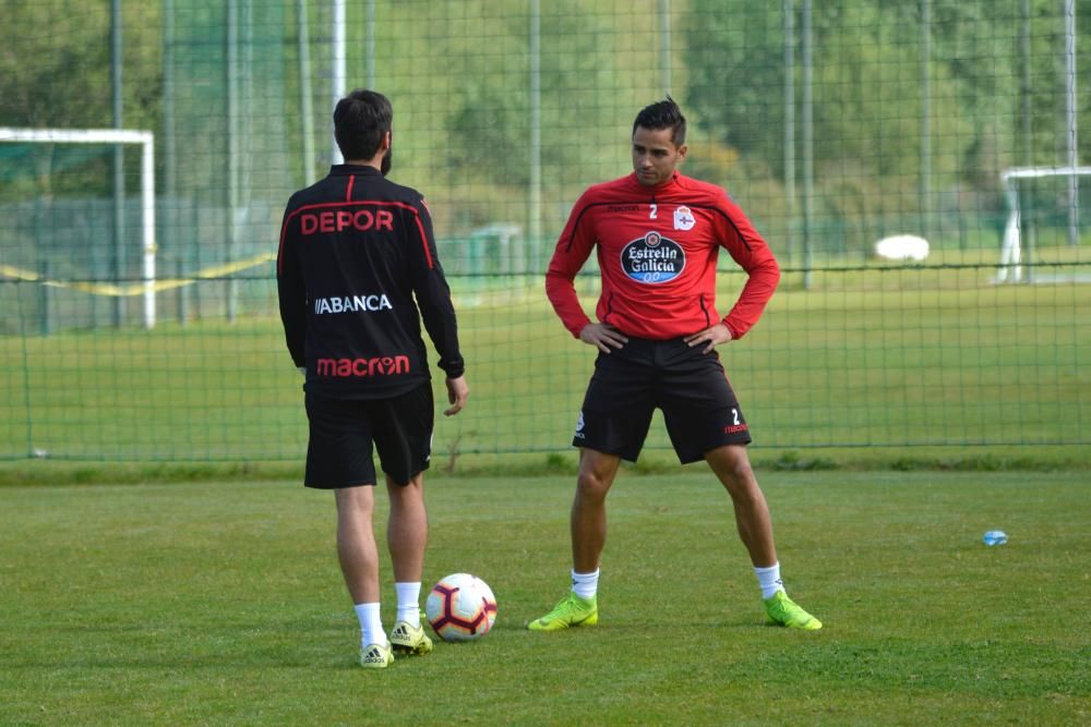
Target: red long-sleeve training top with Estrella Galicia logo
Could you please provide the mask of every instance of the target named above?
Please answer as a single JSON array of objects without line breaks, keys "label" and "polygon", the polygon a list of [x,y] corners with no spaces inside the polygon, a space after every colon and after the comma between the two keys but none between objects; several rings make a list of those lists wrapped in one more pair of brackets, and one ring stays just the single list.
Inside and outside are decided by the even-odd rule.
[{"label": "red long-sleeve training top with Estrella Galicia logo", "polygon": [[722,318],[734,338],[746,334],[780,280],[769,246],[716,186],[674,172],[649,187],[630,174],[595,184],[576,202],[558,241],[546,294],[578,337],[590,323],[573,281],[597,247],[602,292],[595,313],[628,336],[666,340],[719,323],[716,262],[720,247],[748,275]]}]

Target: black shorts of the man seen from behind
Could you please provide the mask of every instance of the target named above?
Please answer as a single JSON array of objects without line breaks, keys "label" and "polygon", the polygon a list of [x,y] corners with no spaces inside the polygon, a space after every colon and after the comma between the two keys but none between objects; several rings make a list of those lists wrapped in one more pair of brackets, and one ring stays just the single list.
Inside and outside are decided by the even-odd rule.
[{"label": "black shorts of the man seen from behind", "polygon": [[375,484],[372,444],[383,472],[406,485],[428,469],[435,421],[432,384],[375,400],[326,399],[308,393],[308,487],[334,489]]}]

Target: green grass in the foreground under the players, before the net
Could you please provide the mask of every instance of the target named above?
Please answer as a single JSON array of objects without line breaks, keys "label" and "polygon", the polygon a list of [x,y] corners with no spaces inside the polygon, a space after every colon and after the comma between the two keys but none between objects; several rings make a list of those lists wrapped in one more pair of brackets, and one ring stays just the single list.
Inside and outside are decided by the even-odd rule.
[{"label": "green grass in the foreground under the players, before the net", "polygon": [[[480,574],[499,620],[380,673],[355,666],[327,494],[7,486],[0,724],[1091,722],[1084,473],[759,476],[822,632],[762,625],[698,467],[619,480],[600,626],[532,634],[567,587],[572,478],[435,473],[425,579]],[[993,528],[1007,545],[982,545]],[[385,554],[383,580],[389,626]]]}]

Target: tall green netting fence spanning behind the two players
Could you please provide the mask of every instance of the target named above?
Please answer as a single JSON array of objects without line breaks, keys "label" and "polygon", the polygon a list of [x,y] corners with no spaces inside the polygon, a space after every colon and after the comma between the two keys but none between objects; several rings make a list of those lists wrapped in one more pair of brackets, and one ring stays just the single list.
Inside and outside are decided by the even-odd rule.
[{"label": "tall green netting fence spanning behind the two players", "polygon": [[[1063,171],[1091,146],[1086,2],[41,0],[0,44],[0,129],[154,138],[151,246],[137,147],[0,141],[0,459],[301,457],[272,260],[360,86],[394,102],[391,175],[428,197],[459,312],[471,403],[439,453],[567,448],[594,351],[544,266],[666,94],[683,172],[784,270],[721,350],[756,446],[1091,443],[1091,180]],[[1016,168],[1062,170],[1018,186],[1019,275]],[[926,256],[878,256],[895,235]]]}]

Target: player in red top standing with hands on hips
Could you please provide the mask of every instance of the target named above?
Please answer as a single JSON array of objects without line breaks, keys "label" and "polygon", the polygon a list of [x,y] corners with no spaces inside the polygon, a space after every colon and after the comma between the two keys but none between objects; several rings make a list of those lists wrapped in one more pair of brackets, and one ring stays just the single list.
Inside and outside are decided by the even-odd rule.
[{"label": "player in red top standing with hands on hips", "polygon": [[[583,194],[546,274],[558,316],[599,354],[573,437],[580,458],[572,505],[572,592],[530,622],[533,631],[598,622],[607,494],[621,460],[639,456],[657,408],[679,460],[704,459],[731,496],[768,620],[822,628],[784,592],[769,508],[746,456],[750,427],[716,352],[757,323],[780,269],[722,189],[679,173],[685,132],[685,118],[670,97],[637,114],[633,173]],[[716,311],[721,247],[747,274],[722,318]],[[602,278],[597,322],[584,313],[573,283],[592,250]]]}]

